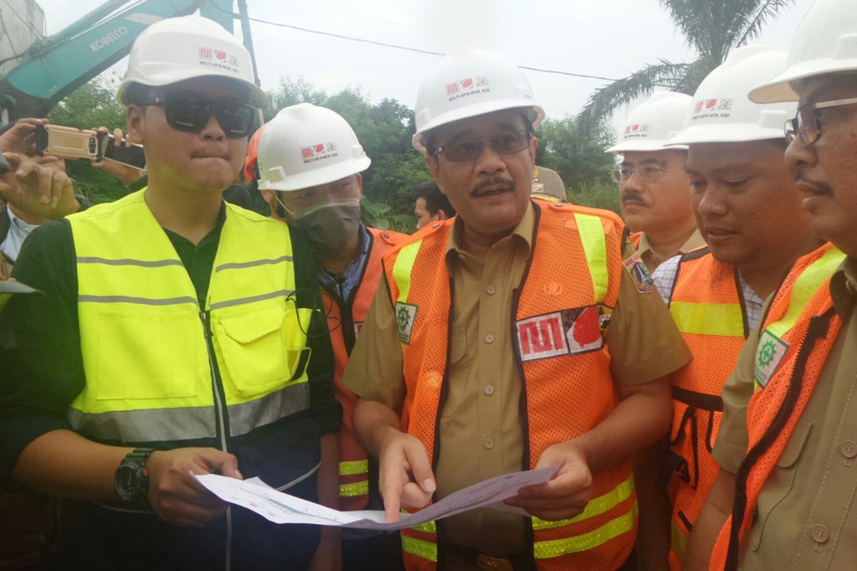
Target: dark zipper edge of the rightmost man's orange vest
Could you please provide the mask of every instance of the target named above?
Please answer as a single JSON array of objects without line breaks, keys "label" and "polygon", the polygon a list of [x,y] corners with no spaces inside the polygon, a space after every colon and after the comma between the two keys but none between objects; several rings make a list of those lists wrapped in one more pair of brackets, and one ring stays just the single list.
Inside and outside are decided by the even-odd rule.
[{"label": "dark zipper edge of the rightmost man's orange vest", "polygon": [[749,449],[738,467],[738,473],[735,476],[735,497],[732,504],[732,526],[729,529],[729,544],[726,551],[727,571],[732,571],[738,568],[738,550],[740,548],[740,528],[744,523],[744,513],[746,511],[747,491],[746,480],[750,476],[750,470],[756,465],[756,462],[767,452],[776,442],[776,437],[779,436],[782,429],[785,427],[788,419],[794,412],[794,405],[800,396],[800,391],[803,389],[803,376],[806,372],[806,361],[809,360],[812,350],[815,348],[815,342],[819,339],[824,339],[830,330],[830,318],[832,312],[825,312],[824,315],[813,315],[810,319],[809,326],[806,328],[806,334],[798,347],[797,357],[794,359],[794,370],[789,379],[786,396],[782,399],[782,404],[777,409],[774,419],[771,421],[768,428],[764,431],[758,442]]}]

